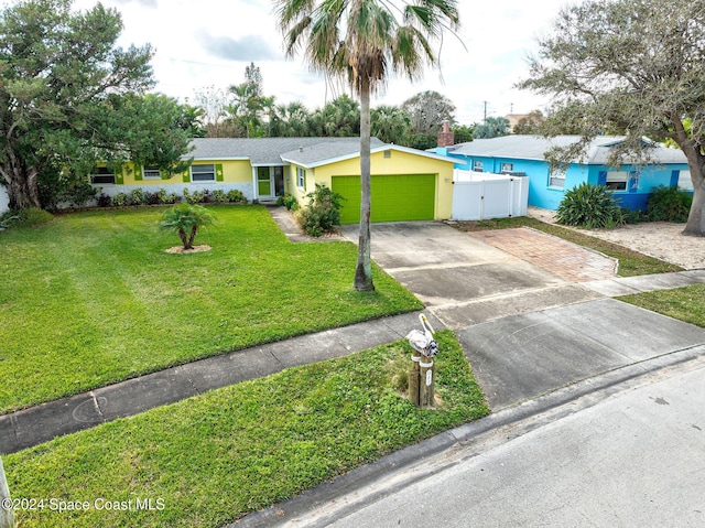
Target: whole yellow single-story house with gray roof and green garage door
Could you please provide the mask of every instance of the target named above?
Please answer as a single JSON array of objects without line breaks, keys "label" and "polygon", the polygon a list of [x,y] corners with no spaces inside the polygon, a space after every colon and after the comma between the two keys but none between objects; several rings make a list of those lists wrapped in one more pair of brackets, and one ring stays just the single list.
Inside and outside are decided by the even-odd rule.
[{"label": "whole yellow single-story house with gray roof and green garage door", "polygon": [[[307,204],[316,184],[346,201],[343,223],[359,220],[359,138],[198,138],[191,168],[171,177],[156,168],[129,165],[118,174],[100,169],[91,183],[115,196],[141,187],[189,191],[238,190],[249,201],[283,194]],[[453,166],[445,155],[371,140],[372,222],[445,219],[453,208]]]}]

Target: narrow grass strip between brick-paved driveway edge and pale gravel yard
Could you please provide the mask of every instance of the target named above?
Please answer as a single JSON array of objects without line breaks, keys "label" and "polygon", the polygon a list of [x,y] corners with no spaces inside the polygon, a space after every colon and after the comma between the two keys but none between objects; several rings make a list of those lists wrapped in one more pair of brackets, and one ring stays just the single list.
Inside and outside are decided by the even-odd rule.
[{"label": "narrow grass strip between brick-paved driveway edge and pale gravel yard", "polygon": [[617,244],[592,237],[585,233],[567,229],[565,227],[546,224],[535,218],[519,216],[514,218],[498,218],[491,220],[460,223],[457,227],[462,230],[507,229],[511,227],[533,227],[549,235],[563,238],[578,246],[600,251],[619,260],[618,274],[633,277],[650,273],[668,273],[683,271],[677,265],[665,262],[653,257],[633,251]]}]

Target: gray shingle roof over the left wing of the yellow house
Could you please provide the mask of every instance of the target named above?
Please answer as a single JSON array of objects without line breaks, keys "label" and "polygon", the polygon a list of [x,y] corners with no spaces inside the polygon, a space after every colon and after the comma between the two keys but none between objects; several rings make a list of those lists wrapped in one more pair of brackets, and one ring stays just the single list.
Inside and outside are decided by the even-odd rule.
[{"label": "gray shingle roof over the left wing of the yellow house", "polygon": [[[373,141],[383,144],[377,138]],[[196,138],[192,144],[195,150],[188,157],[195,160],[239,158],[249,159],[252,165],[281,165],[283,153],[299,152],[300,148],[310,152],[314,146],[316,155],[327,158],[355,153],[360,149],[359,138]]]}]

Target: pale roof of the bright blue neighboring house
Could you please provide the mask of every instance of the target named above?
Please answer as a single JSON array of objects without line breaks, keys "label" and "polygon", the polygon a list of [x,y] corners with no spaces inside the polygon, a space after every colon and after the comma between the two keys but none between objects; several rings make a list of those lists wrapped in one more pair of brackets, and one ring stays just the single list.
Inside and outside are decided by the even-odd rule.
[{"label": "pale roof of the bright blue neighboring house", "polygon": [[[544,152],[551,147],[566,147],[581,139],[579,136],[556,136],[543,138],[540,136],[503,136],[501,138],[476,139],[469,143],[458,143],[448,149],[454,154],[477,155],[487,158],[511,158],[521,160],[544,160]],[[574,163],[605,164],[609,155],[609,148],[623,141],[623,136],[598,136],[593,140],[582,160]],[[685,154],[680,149],[669,149],[655,144],[652,158],[660,163],[687,163]]]}]

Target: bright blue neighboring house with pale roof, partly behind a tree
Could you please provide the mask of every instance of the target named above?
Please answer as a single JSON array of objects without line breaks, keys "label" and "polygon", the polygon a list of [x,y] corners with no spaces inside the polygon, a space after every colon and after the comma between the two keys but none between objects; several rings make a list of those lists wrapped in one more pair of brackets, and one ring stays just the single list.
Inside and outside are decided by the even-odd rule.
[{"label": "bright blue neighboring house with pale roof, partly behind a tree", "polygon": [[[691,174],[685,154],[649,142],[653,148],[653,164],[639,166],[607,165],[609,149],[621,143],[623,137],[599,136],[579,160],[573,160],[564,172],[552,173],[544,152],[552,147],[565,147],[579,140],[579,136],[503,136],[476,139],[469,143],[438,147],[436,153],[456,158],[455,168],[465,171],[511,173],[529,177],[529,205],[555,211],[566,190],[583,182],[606,185],[615,192],[622,207],[647,208],[653,187],[659,185],[692,190]],[[648,140],[644,140],[648,141]]]}]

